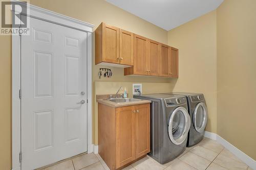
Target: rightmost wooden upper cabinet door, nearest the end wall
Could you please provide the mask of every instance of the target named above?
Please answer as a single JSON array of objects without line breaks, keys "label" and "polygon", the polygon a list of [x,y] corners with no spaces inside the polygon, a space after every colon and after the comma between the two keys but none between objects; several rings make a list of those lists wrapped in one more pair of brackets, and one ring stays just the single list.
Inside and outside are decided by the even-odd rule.
[{"label": "rightmost wooden upper cabinet door, nearest the end wall", "polygon": [[172,78],[178,78],[178,49],[169,47],[169,75]]}]

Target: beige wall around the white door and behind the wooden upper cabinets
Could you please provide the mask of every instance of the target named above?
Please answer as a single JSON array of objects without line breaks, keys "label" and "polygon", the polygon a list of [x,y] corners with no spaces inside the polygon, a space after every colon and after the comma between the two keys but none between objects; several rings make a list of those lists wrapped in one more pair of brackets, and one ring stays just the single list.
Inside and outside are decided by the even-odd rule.
[{"label": "beige wall around the white door and behind the wooden upper cabinets", "polygon": [[[30,3],[63,15],[67,15],[95,25],[94,30],[104,21],[110,25],[154,39],[167,44],[167,31],[147,22],[133,14],[123,11],[104,0],[30,0]],[[94,38],[94,34],[93,34]],[[94,42],[93,42],[94,43]],[[11,169],[11,37],[0,36],[0,169]],[[94,52],[94,49],[93,49]],[[148,78],[123,76],[122,68],[111,68],[112,78],[98,79],[99,66],[94,65],[93,53],[93,82],[168,82],[166,78]],[[94,85],[93,85],[94,86]],[[113,89],[114,90],[114,89]],[[116,89],[117,90],[117,89]],[[97,117],[96,117],[97,118]],[[94,117],[94,122],[97,119]],[[94,132],[97,131],[95,124]],[[97,139],[95,140],[97,142]]]}]

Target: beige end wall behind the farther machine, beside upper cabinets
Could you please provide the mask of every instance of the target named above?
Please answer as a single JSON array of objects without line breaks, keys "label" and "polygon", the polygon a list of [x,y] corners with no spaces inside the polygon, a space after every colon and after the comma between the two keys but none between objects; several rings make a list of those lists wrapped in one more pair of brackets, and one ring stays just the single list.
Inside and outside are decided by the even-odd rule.
[{"label": "beige end wall behind the farther machine, beside upper cabinets", "polygon": [[217,132],[216,10],[168,32],[168,44],[179,48],[179,79],[173,91],[204,93],[207,131]]}]

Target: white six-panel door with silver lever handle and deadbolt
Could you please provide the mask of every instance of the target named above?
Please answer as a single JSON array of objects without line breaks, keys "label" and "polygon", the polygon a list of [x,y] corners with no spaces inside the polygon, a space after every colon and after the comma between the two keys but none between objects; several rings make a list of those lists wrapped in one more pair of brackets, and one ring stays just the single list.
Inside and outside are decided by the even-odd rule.
[{"label": "white six-panel door with silver lever handle and deadbolt", "polygon": [[86,32],[30,18],[21,37],[22,169],[87,152],[86,46]]}]

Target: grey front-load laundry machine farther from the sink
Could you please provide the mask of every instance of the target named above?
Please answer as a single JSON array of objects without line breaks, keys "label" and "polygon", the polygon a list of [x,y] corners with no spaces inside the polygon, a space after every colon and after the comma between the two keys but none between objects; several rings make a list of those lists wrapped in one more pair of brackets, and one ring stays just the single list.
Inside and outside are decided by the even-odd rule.
[{"label": "grey front-load laundry machine farther from the sink", "polygon": [[168,94],[185,95],[188,104],[188,113],[191,118],[191,127],[187,138],[187,147],[199,143],[203,139],[204,129],[207,125],[208,110],[204,95],[199,93],[173,92]]}]

